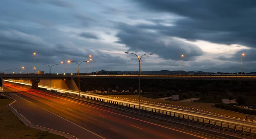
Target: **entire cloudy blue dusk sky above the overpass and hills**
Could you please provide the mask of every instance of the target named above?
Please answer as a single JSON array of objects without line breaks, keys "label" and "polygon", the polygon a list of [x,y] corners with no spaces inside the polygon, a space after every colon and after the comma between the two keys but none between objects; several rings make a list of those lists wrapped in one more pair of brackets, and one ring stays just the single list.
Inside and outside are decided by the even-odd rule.
[{"label": "entire cloudy blue dusk sky above the overpass and hills", "polygon": [[[256,0],[2,0],[0,71],[256,68]],[[67,73],[78,65],[67,63]],[[32,69],[31,69],[32,71]],[[30,72],[31,72],[30,71]],[[93,62],[87,63],[93,71]],[[8,72],[8,71],[5,71]],[[12,71],[10,71],[12,72]],[[26,70],[22,72],[27,73]],[[86,62],[80,72],[86,72]]]}]

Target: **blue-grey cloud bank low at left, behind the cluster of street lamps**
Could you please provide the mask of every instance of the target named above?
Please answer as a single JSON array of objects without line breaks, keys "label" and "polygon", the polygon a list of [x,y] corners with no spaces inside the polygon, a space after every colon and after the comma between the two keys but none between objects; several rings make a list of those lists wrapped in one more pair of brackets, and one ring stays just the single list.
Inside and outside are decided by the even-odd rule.
[{"label": "blue-grey cloud bank low at left, behind the cluster of street lamps", "polygon": [[85,61],[89,54],[95,62],[125,63],[121,57],[114,57],[101,51],[70,47],[69,44],[50,44],[40,37],[25,34],[20,31],[0,30],[0,61],[31,62],[32,54],[36,52],[39,63],[59,63],[63,60]]}]

